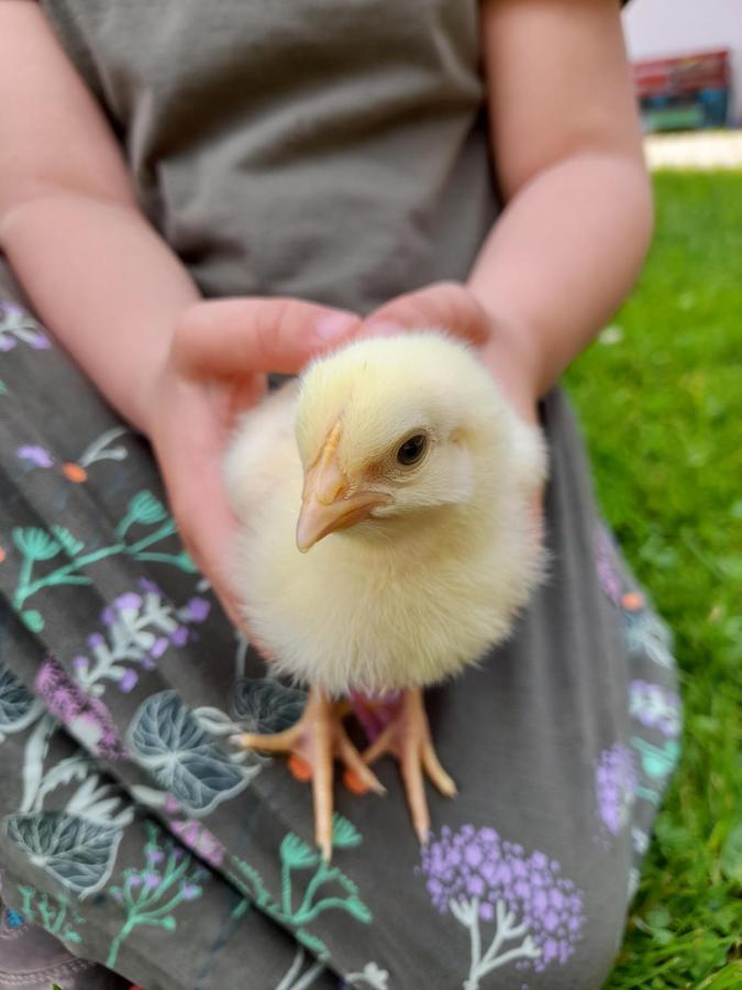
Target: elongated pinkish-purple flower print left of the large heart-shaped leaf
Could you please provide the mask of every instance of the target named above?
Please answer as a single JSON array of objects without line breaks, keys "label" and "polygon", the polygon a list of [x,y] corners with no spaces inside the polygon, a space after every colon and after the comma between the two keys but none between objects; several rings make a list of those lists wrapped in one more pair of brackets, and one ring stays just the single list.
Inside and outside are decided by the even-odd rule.
[{"label": "elongated pinkish-purple flower print left of the large heart-shaped leaf", "polygon": [[100,698],[86,694],[52,656],[40,667],[35,689],[49,713],[97,756],[109,760],[125,756],[106,705]]}]

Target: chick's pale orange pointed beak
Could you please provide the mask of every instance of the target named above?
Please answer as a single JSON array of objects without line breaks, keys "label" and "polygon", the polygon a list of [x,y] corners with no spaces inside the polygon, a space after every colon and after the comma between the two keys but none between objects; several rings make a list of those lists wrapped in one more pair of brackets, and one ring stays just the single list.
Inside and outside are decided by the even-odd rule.
[{"label": "chick's pale orange pointed beak", "polygon": [[329,534],[348,529],[368,518],[373,508],[389,501],[388,496],[379,492],[350,493],[350,481],[337,458],[340,435],[339,424],[304,475],[301,512],[297,524],[297,547],[302,553]]}]

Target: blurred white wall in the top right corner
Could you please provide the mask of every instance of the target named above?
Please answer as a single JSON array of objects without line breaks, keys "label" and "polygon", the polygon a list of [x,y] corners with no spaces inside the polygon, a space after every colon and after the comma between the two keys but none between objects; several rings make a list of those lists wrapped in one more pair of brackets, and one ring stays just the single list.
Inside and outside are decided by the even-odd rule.
[{"label": "blurred white wall in the top right corner", "polygon": [[729,48],[732,118],[742,123],[742,0],[632,0],[623,26],[634,61]]}]

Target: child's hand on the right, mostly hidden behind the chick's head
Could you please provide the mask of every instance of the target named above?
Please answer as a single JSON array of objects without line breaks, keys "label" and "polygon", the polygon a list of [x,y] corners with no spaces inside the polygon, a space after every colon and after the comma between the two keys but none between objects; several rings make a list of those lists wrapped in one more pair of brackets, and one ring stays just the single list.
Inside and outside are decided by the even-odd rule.
[{"label": "child's hand on the right, mostly hidden behind the chick's head", "polygon": [[538,421],[539,396],[525,332],[500,323],[464,285],[439,282],[386,302],[368,317],[364,333],[421,328],[443,328],[477,345],[520,416]]}]

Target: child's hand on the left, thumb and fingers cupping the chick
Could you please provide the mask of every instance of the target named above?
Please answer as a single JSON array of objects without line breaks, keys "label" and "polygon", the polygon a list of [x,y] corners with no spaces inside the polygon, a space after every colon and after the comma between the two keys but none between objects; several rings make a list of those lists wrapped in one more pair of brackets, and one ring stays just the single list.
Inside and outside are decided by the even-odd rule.
[{"label": "child's hand on the left, thumb and fingers cupping the chick", "polygon": [[222,482],[233,417],[258,402],[268,371],[299,372],[359,324],[353,314],[294,299],[199,302],[178,320],[149,388],[144,429],[180,536],[235,625],[228,561],[237,520]]}]

